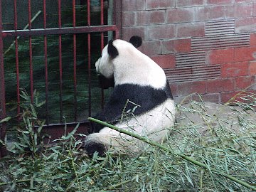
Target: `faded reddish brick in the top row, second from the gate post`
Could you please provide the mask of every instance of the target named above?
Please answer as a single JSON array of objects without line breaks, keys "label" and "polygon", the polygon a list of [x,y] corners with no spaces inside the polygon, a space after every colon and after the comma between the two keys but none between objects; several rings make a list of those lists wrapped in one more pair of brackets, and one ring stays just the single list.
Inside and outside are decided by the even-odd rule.
[{"label": "faded reddish brick in the top row, second from the gate post", "polygon": [[175,6],[175,0],[146,0],[146,9],[169,9],[174,8]]}]

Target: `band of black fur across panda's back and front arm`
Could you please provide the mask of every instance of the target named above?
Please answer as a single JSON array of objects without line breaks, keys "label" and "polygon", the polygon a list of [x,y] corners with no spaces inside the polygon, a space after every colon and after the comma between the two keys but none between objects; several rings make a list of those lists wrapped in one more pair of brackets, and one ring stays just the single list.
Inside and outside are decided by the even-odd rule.
[{"label": "band of black fur across panda's back and front arm", "polygon": [[[134,92],[137,92],[139,97],[138,95],[134,95]],[[94,118],[114,124],[117,120],[121,119],[126,104],[126,110],[132,110],[134,108],[134,105],[130,102],[127,103],[127,100],[140,106],[133,112],[133,114],[137,116],[160,105],[167,98],[173,99],[168,81],[166,81],[164,90],[156,90],[149,86],[140,87],[139,85],[130,84],[117,85],[114,87],[109,102],[107,102],[102,112],[97,114]],[[103,127],[104,126],[101,124],[92,123],[93,132],[99,132]]]}]

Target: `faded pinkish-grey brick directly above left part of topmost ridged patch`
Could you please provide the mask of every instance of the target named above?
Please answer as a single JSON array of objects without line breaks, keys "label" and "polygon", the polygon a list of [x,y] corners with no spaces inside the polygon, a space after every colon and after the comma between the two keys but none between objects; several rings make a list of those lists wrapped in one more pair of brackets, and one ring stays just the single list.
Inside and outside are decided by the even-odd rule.
[{"label": "faded pinkish-grey brick directly above left part of topmost ridged patch", "polygon": [[203,6],[196,9],[195,21],[209,21],[225,18],[224,6]]}]

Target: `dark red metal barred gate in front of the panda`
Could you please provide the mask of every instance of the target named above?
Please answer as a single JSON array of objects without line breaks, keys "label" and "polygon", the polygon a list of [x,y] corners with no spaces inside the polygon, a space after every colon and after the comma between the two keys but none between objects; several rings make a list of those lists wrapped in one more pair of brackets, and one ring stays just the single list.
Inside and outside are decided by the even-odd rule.
[{"label": "dark red metal barred gate in front of the panda", "polygon": [[[33,60],[33,52],[36,52],[36,50],[33,50],[33,38],[35,38],[36,36],[41,36],[43,37],[43,43],[42,43],[42,48],[43,48],[43,68],[44,68],[44,83],[45,83],[45,100],[46,100],[46,105],[45,105],[45,109],[46,109],[46,124],[48,125],[48,127],[53,127],[53,124],[51,124],[50,119],[49,119],[49,115],[50,115],[50,102],[49,102],[49,96],[51,93],[51,90],[49,90],[49,83],[50,83],[50,66],[49,65],[49,60],[48,60],[48,56],[50,55],[50,53],[48,53],[48,41],[50,40],[49,36],[57,36],[58,38],[58,87],[59,87],[59,111],[60,114],[58,115],[58,122],[59,125],[63,124],[63,97],[64,97],[64,86],[65,86],[65,82],[64,82],[64,78],[63,77],[63,35],[67,35],[70,34],[73,37],[73,104],[74,104],[74,121],[73,122],[77,122],[78,121],[78,77],[77,77],[77,64],[78,64],[78,34],[85,34],[85,36],[87,36],[87,49],[85,49],[87,51],[87,53],[85,54],[85,60],[87,60],[87,82],[88,82],[88,92],[87,92],[87,114],[88,116],[92,115],[92,37],[94,33],[100,33],[100,49],[102,50],[102,48],[104,48],[105,46],[105,34],[106,32],[112,32],[114,33],[115,37],[119,38],[119,31],[121,29],[122,26],[122,1],[119,0],[110,0],[108,1],[113,2],[113,5],[111,5],[111,7],[114,7],[114,11],[113,11],[113,16],[110,16],[110,18],[112,18],[112,23],[105,23],[105,11],[106,11],[106,7],[105,7],[105,3],[104,0],[100,0],[100,25],[91,25],[92,23],[92,14],[93,12],[91,11],[91,5],[90,5],[90,0],[85,1],[86,2],[86,6],[87,6],[87,25],[85,26],[78,26],[78,21],[76,21],[77,17],[76,17],[76,11],[77,11],[77,1],[73,0],[72,1],[72,27],[63,27],[63,21],[62,21],[62,6],[63,6],[63,2],[61,0],[57,1],[57,6],[58,6],[58,27],[57,28],[48,28],[47,26],[47,14],[48,14],[48,10],[47,10],[47,6],[48,4],[46,4],[46,0],[41,0],[40,2],[43,4],[43,28],[35,28],[34,27],[34,23],[32,26],[32,22],[33,22],[33,18],[32,18],[32,9],[33,9],[33,3],[34,1],[31,0],[26,0],[28,7],[27,7],[27,19],[28,19],[28,26],[26,26],[26,28],[23,28],[22,30],[19,29],[18,27],[18,11],[20,9],[18,9],[18,5],[19,5],[19,1],[17,0],[10,0],[13,2],[14,5],[14,28],[13,30],[8,30],[8,31],[4,31],[3,27],[2,27],[2,9],[3,9],[3,2],[0,0],[0,118],[4,119],[6,117],[6,83],[5,82],[5,78],[4,78],[4,43],[3,43],[3,39],[4,38],[14,38],[14,54],[15,54],[15,58],[14,58],[14,64],[15,64],[15,74],[16,74],[16,102],[17,102],[17,113],[21,112],[21,108],[20,108],[20,88],[21,86],[23,86],[23,80],[21,81],[21,53],[19,53],[19,48],[21,48],[22,42],[25,38],[23,37],[27,37],[28,38],[28,68],[29,68],[29,82],[27,82],[28,87],[29,87],[29,92],[31,95],[31,101],[33,102],[34,98],[33,98],[33,90],[34,88],[37,86],[37,80],[36,80],[36,76],[34,76],[35,73],[35,68],[38,66],[36,65],[36,62]],[[4,8],[7,9],[7,8]],[[25,11],[25,9],[24,9]],[[48,21],[49,22],[49,21]],[[20,40],[19,40],[20,39]],[[19,42],[18,42],[19,40]],[[10,64],[9,64],[10,65]],[[49,73],[49,74],[48,74]],[[104,104],[104,90],[100,91],[101,93],[101,98],[102,98],[102,102],[101,105],[103,106]],[[70,122],[72,123],[72,122]],[[58,124],[55,124],[56,126]],[[5,133],[6,133],[6,127],[5,124],[0,124],[0,128],[1,128],[1,139],[4,139]],[[53,127],[54,129],[54,127]],[[0,154],[1,155],[1,154]]]}]

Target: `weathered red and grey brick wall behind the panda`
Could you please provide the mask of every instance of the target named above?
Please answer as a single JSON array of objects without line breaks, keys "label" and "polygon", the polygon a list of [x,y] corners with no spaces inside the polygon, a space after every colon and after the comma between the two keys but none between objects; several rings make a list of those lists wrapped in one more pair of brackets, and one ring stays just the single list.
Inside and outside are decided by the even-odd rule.
[{"label": "weathered red and grey brick wall behind the panda", "polygon": [[256,0],[123,0],[122,38],[133,35],[164,68],[177,101],[198,92],[227,102],[255,90]]}]

